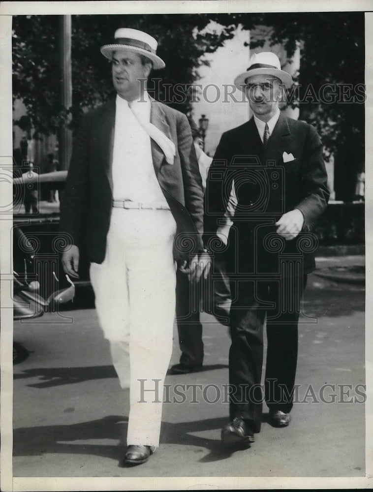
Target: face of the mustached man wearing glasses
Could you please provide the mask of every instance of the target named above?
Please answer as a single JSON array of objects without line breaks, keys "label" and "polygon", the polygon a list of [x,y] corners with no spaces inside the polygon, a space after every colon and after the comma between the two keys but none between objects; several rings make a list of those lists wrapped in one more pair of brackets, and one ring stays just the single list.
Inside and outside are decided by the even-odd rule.
[{"label": "face of the mustached man wearing glasses", "polygon": [[276,113],[281,98],[281,81],[268,75],[253,75],[246,81],[246,97],[254,115],[268,122]]}]

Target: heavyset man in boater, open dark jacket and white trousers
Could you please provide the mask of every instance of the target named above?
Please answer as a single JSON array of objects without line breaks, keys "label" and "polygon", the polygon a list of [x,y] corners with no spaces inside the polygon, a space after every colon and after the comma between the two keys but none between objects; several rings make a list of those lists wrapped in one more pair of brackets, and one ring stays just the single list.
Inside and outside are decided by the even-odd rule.
[{"label": "heavyset man in boater, open dark jacket and white trousers", "polygon": [[[119,29],[101,47],[115,100],[85,115],[61,210],[71,240],[62,263],[78,276],[85,246],[96,310],[122,388],[130,388],[124,461],[143,463],[159,443],[163,382],[172,352],[175,260],[198,277],[203,189],[187,117],[150,98],[164,67],[149,34]],[[186,258],[196,258],[199,262]],[[130,370],[129,370],[130,365]]]}]

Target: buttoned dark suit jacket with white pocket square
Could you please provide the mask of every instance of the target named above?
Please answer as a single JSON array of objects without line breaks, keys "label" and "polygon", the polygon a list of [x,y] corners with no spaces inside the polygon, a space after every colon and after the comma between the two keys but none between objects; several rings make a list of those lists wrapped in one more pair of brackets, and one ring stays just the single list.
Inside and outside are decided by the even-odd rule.
[{"label": "buttoned dark suit jacket with white pocket square", "polygon": [[[283,153],[294,160],[283,161]],[[304,273],[314,268],[310,237],[328,199],[322,144],[315,129],[280,114],[264,149],[254,119],[225,132],[210,167],[206,187],[204,241],[215,237],[226,210],[232,180],[238,198],[230,231],[231,268],[240,272],[279,273],[279,254],[302,254]],[[275,222],[293,209],[304,215],[300,235],[282,241]],[[310,243],[311,242],[311,243]]]}]

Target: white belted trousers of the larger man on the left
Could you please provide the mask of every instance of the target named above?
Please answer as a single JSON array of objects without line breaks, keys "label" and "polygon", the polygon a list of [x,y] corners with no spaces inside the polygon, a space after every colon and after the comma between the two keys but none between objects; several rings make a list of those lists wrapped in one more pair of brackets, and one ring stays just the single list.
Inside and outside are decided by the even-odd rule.
[{"label": "white belted trousers of the larger man on the left", "polygon": [[91,263],[95,306],[122,388],[127,445],[157,447],[172,354],[176,222],[167,210],[113,208],[102,264]]}]

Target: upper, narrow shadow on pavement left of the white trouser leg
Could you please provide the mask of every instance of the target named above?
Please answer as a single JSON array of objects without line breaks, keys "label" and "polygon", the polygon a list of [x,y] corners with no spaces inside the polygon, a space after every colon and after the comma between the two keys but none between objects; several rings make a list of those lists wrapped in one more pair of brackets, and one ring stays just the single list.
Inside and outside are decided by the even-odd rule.
[{"label": "upper, narrow shadow on pavement left of the white trouser leg", "polygon": [[31,388],[50,388],[62,384],[82,383],[90,379],[117,377],[113,366],[91,366],[77,368],[37,368],[26,369],[21,374],[14,374],[14,379],[39,377],[43,382],[28,384]]}]

